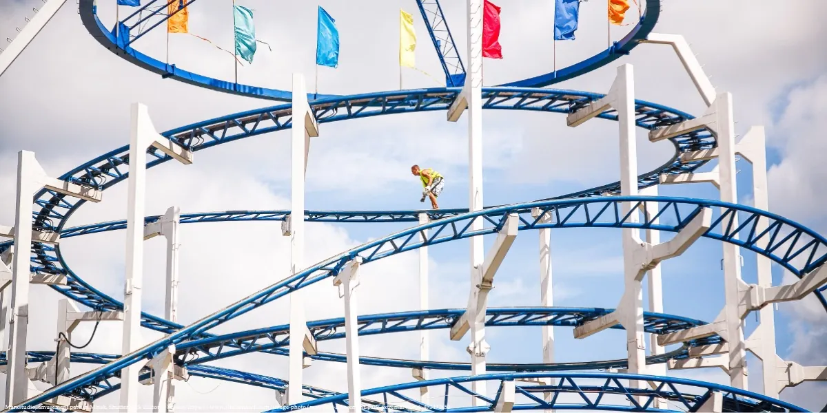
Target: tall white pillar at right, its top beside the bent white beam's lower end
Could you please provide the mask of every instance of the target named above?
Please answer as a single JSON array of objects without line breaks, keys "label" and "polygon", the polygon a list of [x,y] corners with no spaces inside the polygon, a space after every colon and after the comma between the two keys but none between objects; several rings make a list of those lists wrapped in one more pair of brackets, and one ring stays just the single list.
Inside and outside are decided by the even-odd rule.
[{"label": "tall white pillar at right, its top beside the bent white beam's lower end", "polygon": [[[732,94],[719,93],[715,98],[715,125],[718,130],[718,159],[721,201],[738,203],[735,181],[735,123]],[[729,219],[723,225],[729,225]],[[733,228],[738,225],[734,219]],[[747,390],[746,346],[743,342],[743,322],[739,313],[739,282],[741,256],[739,247],[724,243],[724,316],[727,320],[729,348],[729,382],[733,387]]]}]

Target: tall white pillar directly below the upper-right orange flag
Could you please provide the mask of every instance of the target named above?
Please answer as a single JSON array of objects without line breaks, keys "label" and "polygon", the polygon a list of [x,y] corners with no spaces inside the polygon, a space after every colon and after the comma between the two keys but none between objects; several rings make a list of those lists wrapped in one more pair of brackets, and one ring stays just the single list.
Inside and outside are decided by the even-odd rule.
[{"label": "tall white pillar directly below the upper-right orange flag", "polygon": [[[618,68],[615,80],[617,93],[615,107],[618,112],[620,129],[620,192],[623,196],[638,195],[638,153],[635,140],[634,112],[634,72],[631,64]],[[631,202],[624,202],[621,213],[625,216],[632,207]],[[638,221],[637,211],[629,217],[630,222]],[[626,329],[626,349],[629,355],[629,373],[646,373],[646,342],[643,336],[643,288],[638,278],[639,261],[635,251],[640,248],[640,232],[633,228],[623,229],[624,251],[624,299],[621,301],[624,311],[623,323]],[[630,380],[629,386],[639,387],[639,382]]]}]

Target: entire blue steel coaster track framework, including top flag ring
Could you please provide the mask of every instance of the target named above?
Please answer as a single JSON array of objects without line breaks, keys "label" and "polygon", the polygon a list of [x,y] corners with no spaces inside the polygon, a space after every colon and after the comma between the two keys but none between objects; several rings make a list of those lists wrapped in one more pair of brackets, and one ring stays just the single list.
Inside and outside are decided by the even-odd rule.
[{"label": "entire blue steel coaster track framework, including top flag ring", "polygon": [[[177,0],[171,0],[177,1]],[[186,5],[196,0],[187,0]],[[165,21],[167,0],[150,0],[148,4],[124,21],[117,22],[117,28],[108,31],[98,20],[97,10],[93,0],[79,0],[79,12],[88,31],[105,47],[116,55],[149,69],[164,77],[176,78],[186,83],[211,88],[227,93],[236,93],[255,97],[270,98],[273,100],[289,100],[291,93],[265,88],[256,88],[238,83],[230,83],[214,78],[203,77],[181,69],[174,64],[161,63],[141,54],[131,47],[131,43],[144,36],[154,27]],[[155,8],[150,8],[154,3]],[[437,0],[418,0],[420,12],[426,21],[429,35],[437,49],[445,72],[447,83],[450,86],[459,86],[464,83],[465,65],[462,63],[457,47],[453,42],[451,32],[442,14],[442,8]],[[604,95],[595,93],[581,93],[564,90],[538,89],[529,87],[544,86],[567,78],[573,78],[608,64],[621,55],[629,54],[639,42],[645,40],[652,31],[660,10],[659,0],[647,0],[646,12],[637,26],[629,32],[623,40],[615,42],[609,49],[574,64],[568,68],[534,78],[523,79],[508,83],[500,88],[485,88],[483,90],[483,107],[486,109],[527,110],[535,112],[558,112],[571,114],[589,106]],[[143,12],[147,12],[146,16]],[[157,18],[160,17],[160,18]],[[153,23],[148,28],[141,27],[149,21]],[[139,28],[135,31],[136,28]],[[114,33],[118,35],[114,35]],[[321,95],[322,98],[311,102],[311,110],[318,122],[332,122],[355,119],[366,116],[379,116],[394,113],[429,112],[446,110],[457,100],[459,88],[432,88],[412,91],[394,91],[389,93],[366,93],[354,96]],[[644,129],[653,131],[667,126],[676,126],[684,121],[693,119],[692,116],[657,104],[635,101],[636,124]],[[598,117],[617,120],[614,109],[600,112]],[[292,125],[292,109],[290,105],[267,107],[261,110],[243,112],[224,116],[197,124],[184,126],[163,134],[174,143],[188,150],[203,150],[232,140],[238,140],[253,135],[261,135],[271,131],[288,129]],[[676,148],[675,156],[661,167],[643,173],[638,177],[638,187],[646,188],[656,185],[661,175],[677,175],[691,173],[698,169],[705,160],[695,160],[682,163],[681,154],[698,150],[715,148],[715,138],[711,131],[704,128],[688,131],[670,139]],[[151,160],[146,164],[152,167],[172,159],[170,155],[155,148],[147,151]],[[110,188],[127,178],[129,165],[128,147],[113,150],[108,154],[93,159],[88,163],[73,169],[60,178],[77,183],[84,187],[98,190]],[[115,391],[120,385],[113,380],[119,377],[122,368],[139,363],[145,359],[154,358],[162,354],[171,344],[176,345],[178,363],[185,364],[189,373],[203,377],[214,377],[234,382],[274,388],[281,390],[286,385],[283,380],[252,375],[235,370],[213,368],[201,365],[218,358],[227,358],[236,354],[246,354],[251,351],[263,351],[273,354],[286,354],[284,346],[289,344],[288,328],[277,326],[270,329],[250,330],[231,335],[215,336],[208,330],[221,325],[227,320],[252,311],[259,306],[290,292],[306,287],[314,282],[336,276],[344,265],[354,259],[361,263],[370,263],[376,259],[399,254],[404,251],[418,249],[426,245],[441,244],[452,240],[461,240],[472,236],[494,234],[502,229],[509,215],[516,215],[519,219],[519,230],[533,230],[543,228],[584,228],[584,227],[614,227],[636,228],[645,230],[660,230],[678,232],[684,229],[707,209],[715,211],[712,225],[705,230],[703,236],[726,243],[750,249],[778,263],[786,270],[799,278],[813,274],[827,261],[827,247],[825,239],[803,225],[786,220],[766,211],[751,207],[729,204],[726,202],[705,201],[679,197],[602,197],[605,195],[619,195],[619,183],[610,183],[600,188],[591,188],[582,192],[567,194],[561,197],[549,198],[537,202],[527,202],[501,207],[490,207],[484,211],[469,213],[467,210],[441,210],[432,212],[432,221],[425,225],[418,225],[408,230],[402,230],[383,239],[360,245],[354,249],[337,254],[330,259],[318,263],[304,271],[295,273],[281,282],[256,292],[246,299],[229,306],[222,311],[198,320],[193,325],[183,326],[157,316],[141,313],[141,325],[152,330],[159,330],[168,335],[165,339],[148,344],[143,349],[131,354],[115,356],[109,354],[73,354],[72,360],[79,363],[103,363],[103,366],[92,372],[74,377],[67,382],[41,393],[26,401],[26,406],[19,406],[12,410],[26,409],[38,406],[52,397],[66,394],[85,396],[91,400]],[[567,199],[562,199],[567,198]],[[631,206],[627,214],[621,207],[622,202]],[[35,230],[60,233],[62,237],[86,235],[106,230],[122,229],[125,222],[115,221],[102,224],[84,225],[65,229],[66,221],[74,211],[77,211],[84,201],[71,196],[63,195],[49,189],[41,190],[35,197],[35,203],[40,210],[33,214]],[[638,209],[646,210],[647,205],[656,203],[657,207],[651,215],[638,220]],[[538,215],[533,212],[538,211]],[[650,210],[651,211],[651,210]],[[305,221],[323,222],[411,222],[418,221],[418,214],[423,211],[305,211]],[[209,222],[209,221],[284,221],[289,211],[227,211],[210,212],[204,214],[185,214],[181,222]],[[541,217],[552,216],[551,221],[543,221]],[[147,217],[146,223],[156,221],[158,217]],[[768,227],[759,230],[758,221],[768,222]],[[481,229],[472,224],[482,222]],[[420,240],[420,235],[422,239]],[[0,252],[7,249],[11,243],[0,244]],[[65,286],[52,287],[67,297],[79,301],[98,311],[122,310],[123,304],[98,292],[94,287],[84,282],[66,265],[60,254],[60,246],[51,246],[35,242],[32,244],[31,254],[32,272],[39,274],[64,274],[67,276]],[[827,286],[813,290],[825,309],[827,301],[823,296]],[[808,290],[810,291],[810,290]],[[359,321],[359,335],[375,335],[409,330],[431,330],[448,328],[461,316],[461,310],[420,311],[413,313],[394,313],[389,315],[361,317]],[[601,309],[491,309],[487,313],[485,325],[571,325],[580,326],[605,316],[609,311]],[[647,314],[644,330],[655,334],[668,334],[681,330],[691,329],[704,324],[698,320],[689,320],[676,316],[662,314]],[[319,320],[308,323],[313,338],[318,340],[336,339],[344,336],[342,319]],[[650,356],[647,363],[662,363],[667,358],[686,357],[686,346],[716,344],[721,341],[718,335],[709,335],[702,339],[689,340],[681,349],[667,354]],[[54,353],[31,352],[28,358],[32,362],[44,362]],[[5,356],[5,354],[3,354]],[[194,357],[194,359],[189,359]],[[317,354],[314,357],[330,361],[344,361],[342,354]],[[0,361],[3,357],[0,357]],[[390,360],[384,358],[360,358],[362,363],[418,368],[444,368],[467,370],[465,363],[434,363],[415,362],[411,360]],[[534,368],[553,370],[555,368],[619,368],[626,360],[609,360],[606,362],[586,363],[559,363],[559,364],[501,364],[490,365],[491,370],[526,370]],[[565,367],[563,367],[565,366]],[[573,366],[573,367],[572,367]],[[145,372],[147,370],[145,369]],[[144,373],[142,378],[148,377]],[[557,384],[554,380],[559,378]],[[544,379],[544,380],[543,380]],[[514,384],[524,380],[543,380],[543,384]],[[594,384],[594,381],[599,381]],[[621,380],[645,380],[652,388],[630,388],[624,386]],[[500,390],[494,398],[473,392],[462,383],[477,381],[495,381],[500,383]],[[446,397],[449,389],[455,389],[471,396],[472,399],[482,401],[472,407],[430,406],[399,392],[409,388],[425,386],[444,386]],[[676,386],[693,387],[696,392],[679,391]],[[671,377],[651,377],[629,374],[600,374],[600,373],[509,373],[489,374],[474,377],[454,377],[425,382],[414,382],[380,387],[362,391],[363,396],[381,395],[382,402],[364,400],[367,411],[484,411],[495,408],[500,397],[507,393],[504,389],[514,389],[516,394],[529,401],[528,404],[516,404],[514,409],[594,409],[594,410],[625,410],[625,411],[654,411],[653,402],[656,399],[666,399],[679,404],[689,411],[697,411],[705,406],[713,397],[723,399],[724,411],[801,411],[783,401],[777,401],[767,396],[746,392],[732,387],[723,387],[711,383],[693,382]],[[332,404],[347,406],[347,394],[329,392],[316,387],[303,386],[305,395],[313,398],[299,406],[321,406]],[[539,393],[552,393],[552,401],[543,401]],[[558,396],[571,393],[579,396],[575,403],[563,403]],[[513,394],[511,395],[513,396]],[[625,405],[608,406],[612,396],[619,396]],[[408,406],[397,406],[388,402],[389,398],[407,403]],[[565,398],[565,396],[563,397]],[[446,399],[447,400],[447,399]],[[297,406],[288,406],[293,409]]]}]

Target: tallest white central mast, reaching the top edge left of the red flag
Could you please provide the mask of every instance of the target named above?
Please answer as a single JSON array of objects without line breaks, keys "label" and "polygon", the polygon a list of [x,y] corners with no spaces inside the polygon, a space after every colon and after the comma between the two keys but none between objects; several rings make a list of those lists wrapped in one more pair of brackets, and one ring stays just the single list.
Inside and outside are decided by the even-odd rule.
[{"label": "tallest white central mast, reaching the top edge left of the red flag", "polygon": [[[482,0],[467,0],[468,14],[468,72],[464,93],[468,102],[468,172],[469,209],[480,211],[482,201]],[[471,224],[471,230],[481,230],[482,219]],[[482,280],[482,264],[485,260],[481,236],[471,238],[471,289]],[[477,290],[479,292],[479,290]],[[476,300],[472,300],[474,302]],[[471,322],[471,375],[485,374],[485,308],[475,309]],[[485,381],[472,382],[471,389],[485,396]],[[472,398],[472,406],[480,400]]]}]

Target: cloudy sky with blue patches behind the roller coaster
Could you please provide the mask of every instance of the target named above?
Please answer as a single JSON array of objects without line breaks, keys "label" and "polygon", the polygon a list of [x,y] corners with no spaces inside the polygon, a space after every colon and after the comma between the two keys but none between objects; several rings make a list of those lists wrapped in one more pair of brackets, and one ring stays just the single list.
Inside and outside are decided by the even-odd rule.
[{"label": "cloudy sky with blue patches behind the roller coaster", "polygon": [[[399,88],[399,8],[414,12],[419,36],[420,71],[405,69],[403,88],[438,87],[441,69],[414,0],[320,2],[237,0],[255,12],[260,45],[253,64],[238,69],[241,83],[289,89],[291,75],[302,73],[308,89],[316,88],[314,42],[317,5],[336,18],[342,38],[338,69],[318,69],[320,93],[366,93]],[[98,1],[108,25],[115,18],[114,0]],[[552,42],[551,0],[500,2],[504,59],[485,59],[485,85],[526,78],[576,63],[619,40],[637,23],[629,12],[627,26],[607,33],[605,2],[581,4],[575,41]],[[0,38],[16,35],[37,0],[0,2]],[[827,234],[827,172],[818,165],[827,150],[827,36],[821,17],[827,2],[796,0],[758,4],[745,0],[664,0],[657,32],[686,37],[719,92],[734,95],[737,133],[749,126],[767,127],[770,164],[770,209]],[[465,50],[465,7],[444,1],[457,46]],[[122,8],[122,16],[127,8]],[[232,46],[230,0],[197,2],[189,28],[224,49]],[[214,78],[231,80],[233,60],[227,53],[194,36],[174,35],[166,49],[165,35],[153,31],[135,47],[156,59]],[[556,50],[555,50],[556,49]],[[463,53],[464,55],[464,53]],[[700,115],[704,103],[671,48],[641,45],[632,55],[557,88],[605,93],[617,64],[634,65],[639,99]],[[139,69],[105,50],[88,36],[75,2],[67,2],[0,78],[0,222],[13,221],[17,152],[31,150],[53,176],[128,143],[129,107],[143,102],[158,131],[274,102],[211,92]],[[619,176],[617,129],[613,122],[594,121],[576,129],[563,116],[542,113],[485,112],[485,203],[512,203],[552,197],[614,182]],[[466,118],[456,124],[444,114],[380,116],[324,125],[313,140],[308,161],[308,209],[417,209],[420,186],[409,175],[411,164],[433,167],[445,175],[442,207],[467,206]],[[261,135],[196,154],[189,166],[167,163],[149,172],[147,214],[161,214],[172,205],[181,211],[286,209],[289,207],[289,133]],[[638,133],[638,170],[650,170],[672,155],[672,145],[649,143]],[[713,165],[706,168],[711,169]],[[750,166],[741,160],[739,198],[752,197]],[[661,188],[662,195],[717,199],[711,185]],[[122,219],[126,216],[126,185],[104,194],[103,202],[86,205],[69,225]],[[344,249],[399,230],[404,225],[307,225],[306,260],[316,262]],[[67,239],[67,263],[88,282],[122,297],[124,231]],[[284,278],[289,270],[289,242],[279,223],[184,225],[181,235],[179,319],[187,323],[248,293]],[[491,240],[486,239],[486,244]],[[163,313],[165,243],[146,243],[144,306]],[[622,293],[622,251],[619,231],[557,230],[552,235],[555,304],[613,308]],[[431,249],[430,301],[433,308],[466,306],[469,287],[467,241]],[[490,306],[537,305],[537,235],[521,234],[504,262],[490,296]],[[744,253],[743,278],[754,282],[754,255]],[[719,243],[700,240],[684,256],[663,264],[665,311],[713,320],[724,300]],[[417,256],[401,254],[363,268],[360,314],[418,308]],[[784,274],[773,271],[774,280]],[[600,286],[599,288],[595,286]],[[342,316],[335,290],[320,282],[308,288],[308,317]],[[30,349],[54,346],[55,311],[61,298],[48,287],[32,287]],[[287,301],[276,301],[222,325],[219,331],[241,330],[287,321]],[[827,316],[812,297],[779,306],[777,347],[782,358],[805,365],[827,364]],[[748,317],[747,332],[754,325]],[[74,337],[84,342],[91,326]],[[158,336],[143,332],[149,341]],[[489,329],[491,363],[538,363],[539,329]],[[557,329],[557,359],[586,361],[624,357],[624,333],[609,331],[585,340]],[[117,354],[119,323],[102,325],[89,351]],[[432,335],[437,360],[466,360],[466,340],[451,342],[446,331]],[[74,341],[73,340],[73,341]],[[418,335],[362,339],[362,353],[381,357],[418,357]],[[343,342],[326,342],[324,351],[343,351]],[[760,391],[760,361],[749,358],[750,388]],[[286,359],[246,355],[219,365],[275,377],[286,377]],[[73,367],[81,373],[84,366]],[[305,370],[309,384],[347,391],[343,364],[317,363]],[[411,380],[407,370],[363,368],[363,383],[376,387]],[[433,373],[435,376],[444,373]],[[716,370],[670,372],[682,377],[725,382]],[[0,379],[2,380],[2,379]],[[41,383],[42,384],[42,383]],[[809,409],[827,402],[824,385],[805,383],[787,389],[782,398]],[[151,400],[150,389],[142,389]],[[820,393],[820,394],[819,394]],[[222,406],[227,400],[250,405],[275,403],[273,392],[232,383],[194,378],[178,385],[179,409]],[[116,403],[117,396],[100,401]]]}]

